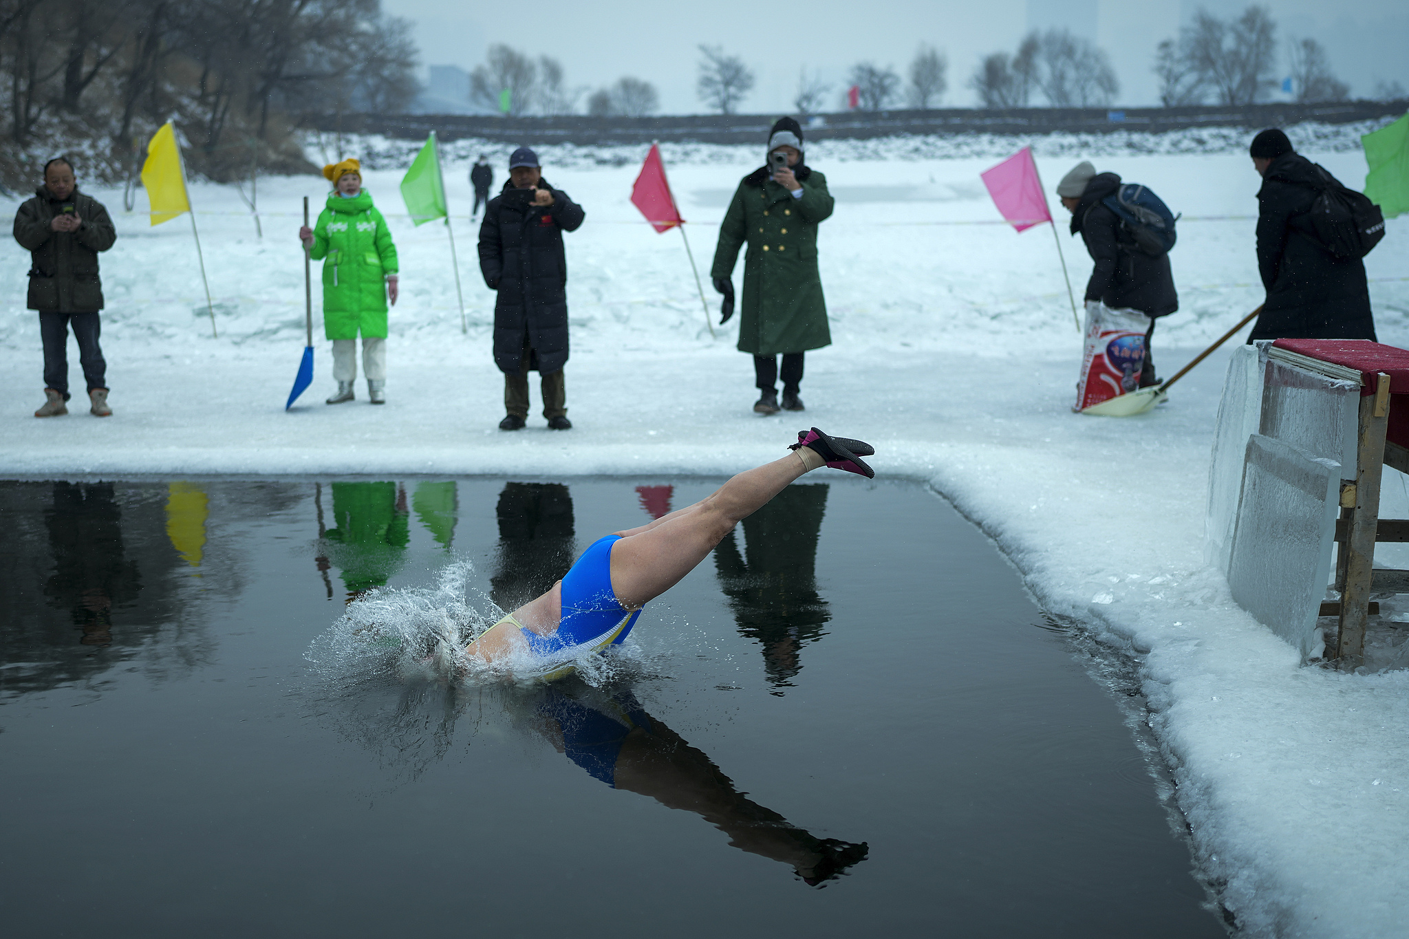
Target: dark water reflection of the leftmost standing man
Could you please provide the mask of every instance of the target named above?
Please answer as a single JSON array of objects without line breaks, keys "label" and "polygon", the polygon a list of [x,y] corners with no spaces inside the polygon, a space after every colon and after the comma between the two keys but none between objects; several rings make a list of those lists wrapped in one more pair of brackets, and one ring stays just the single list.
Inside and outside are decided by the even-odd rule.
[{"label": "dark water reflection of the leftmost standing man", "polygon": [[121,517],[111,483],[55,483],[54,507],[44,514],[54,552],[44,593],[72,611],[86,646],[113,643],[113,607],[142,588],[137,565],[124,556]]}]

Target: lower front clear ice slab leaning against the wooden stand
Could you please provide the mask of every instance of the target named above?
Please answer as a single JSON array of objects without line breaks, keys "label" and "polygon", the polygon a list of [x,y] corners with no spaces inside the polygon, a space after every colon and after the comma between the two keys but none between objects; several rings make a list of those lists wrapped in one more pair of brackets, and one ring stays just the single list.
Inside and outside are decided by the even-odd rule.
[{"label": "lower front clear ice slab leaning against the wooden stand", "polygon": [[1229,587],[1233,600],[1310,656],[1330,577],[1341,467],[1284,441],[1247,441]]}]

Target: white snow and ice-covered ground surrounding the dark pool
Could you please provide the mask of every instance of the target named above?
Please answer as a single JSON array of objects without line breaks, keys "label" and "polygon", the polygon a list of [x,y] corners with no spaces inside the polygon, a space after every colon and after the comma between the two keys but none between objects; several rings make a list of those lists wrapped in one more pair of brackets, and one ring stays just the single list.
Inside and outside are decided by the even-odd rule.
[{"label": "white snow and ice-covered ground surrounding the dark pool", "polygon": [[[741,148],[706,151],[669,168],[702,276],[734,184],[761,162]],[[445,228],[411,228],[399,214],[400,172],[368,173],[403,265],[380,408],[361,389],[355,404],[321,403],[331,360],[316,322],[317,380],[283,411],[303,348],[294,228],[300,196],[314,211],[321,203],[321,179],[261,182],[262,239],[232,189],[193,189],[218,339],[189,221],[148,228],[145,215],[121,213],[120,191],[96,190],[120,232],[103,258],[116,415],[30,417],[42,401],[39,336],[24,310],[28,256],[13,248],[0,256],[11,284],[0,307],[0,473],[726,474],[776,456],[805,424],[861,436],[876,445],[879,473],[927,480],[974,518],[1047,610],[1137,657],[1202,873],[1247,935],[1403,935],[1409,672],[1299,666],[1203,565],[1226,355],[1140,418],[1072,414],[1081,339],[1051,231],[993,224],[978,179],[992,155],[900,159],[899,145],[872,153],[830,162],[819,148],[812,160],[837,194],[820,246],[836,345],[807,359],[802,420],[750,411],[750,359],[734,351],[731,328],[713,339],[706,331],[681,237],[657,235],[627,201],[635,165],[550,162],[547,179],[588,211],[568,235],[576,427],[564,434],[541,418],[519,434],[495,429],[503,408],[493,296],[464,218],[462,160],[447,176],[465,334]],[[1309,155],[1351,186],[1364,180],[1355,152]],[[1075,159],[1040,156],[1048,187]],[[1098,168],[1153,186],[1185,214],[1172,255],[1182,310],[1161,321],[1154,344],[1169,373],[1261,300],[1258,177],[1237,152],[1127,152]],[[1060,206],[1055,214],[1065,217]],[[1062,234],[1062,245],[1079,298],[1089,262],[1079,241]],[[1406,248],[1409,220],[1392,221],[1367,262],[1379,336],[1395,345],[1409,345]],[[707,279],[706,296],[717,318]],[[70,380],[82,389],[76,359]],[[1382,514],[1409,517],[1409,490],[1391,476]],[[1382,626],[1377,660],[1398,662],[1389,646],[1401,638]]]}]

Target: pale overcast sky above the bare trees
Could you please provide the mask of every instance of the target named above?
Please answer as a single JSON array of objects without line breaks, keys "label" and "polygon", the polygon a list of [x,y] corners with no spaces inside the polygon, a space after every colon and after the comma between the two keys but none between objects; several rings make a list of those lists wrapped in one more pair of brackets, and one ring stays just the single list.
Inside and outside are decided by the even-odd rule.
[{"label": "pale overcast sky above the bare trees", "polygon": [[[393,15],[416,23],[421,65],[472,69],[493,42],[562,62],[568,83],[600,87],[624,75],[645,79],[661,93],[661,111],[704,111],[695,94],[700,44],[721,45],[758,76],[741,110],[786,113],[802,69],[816,70],[840,89],[857,62],[889,65],[902,75],[920,44],[950,61],[944,104],[974,104],[965,87],[978,59],[1012,51],[1030,27],[1065,25],[1110,55],[1120,79],[1120,104],[1155,104],[1150,63],[1160,39],[1174,37],[1199,7],[1234,15],[1241,0],[810,0],[800,4],[759,0],[537,0],[527,4],[469,4],[445,0],[382,0]],[[1270,0],[1279,46],[1316,37],[1334,72],[1355,96],[1377,82],[1409,87],[1409,3],[1360,0]],[[424,79],[424,69],[421,72]],[[836,107],[836,106],[833,106]],[[831,108],[828,108],[831,110]]]}]

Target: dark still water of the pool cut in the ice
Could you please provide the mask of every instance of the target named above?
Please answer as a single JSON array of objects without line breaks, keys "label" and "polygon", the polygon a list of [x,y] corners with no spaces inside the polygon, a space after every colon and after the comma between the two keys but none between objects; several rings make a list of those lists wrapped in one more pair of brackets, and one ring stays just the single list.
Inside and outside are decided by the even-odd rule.
[{"label": "dark still water of the pool cut in the ice", "polygon": [[511,607],[714,484],[0,483],[4,935],[1223,935],[1112,694],[919,486],[790,487],[602,687],[341,648],[349,597]]}]

